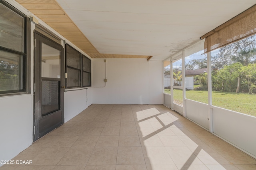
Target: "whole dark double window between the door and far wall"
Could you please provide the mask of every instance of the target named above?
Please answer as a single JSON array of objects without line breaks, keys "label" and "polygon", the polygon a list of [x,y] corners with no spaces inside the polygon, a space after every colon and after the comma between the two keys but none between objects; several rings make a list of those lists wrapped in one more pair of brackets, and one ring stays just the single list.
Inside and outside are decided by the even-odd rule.
[{"label": "whole dark double window between the door and far wall", "polygon": [[91,60],[66,44],[67,88],[91,86]]}]

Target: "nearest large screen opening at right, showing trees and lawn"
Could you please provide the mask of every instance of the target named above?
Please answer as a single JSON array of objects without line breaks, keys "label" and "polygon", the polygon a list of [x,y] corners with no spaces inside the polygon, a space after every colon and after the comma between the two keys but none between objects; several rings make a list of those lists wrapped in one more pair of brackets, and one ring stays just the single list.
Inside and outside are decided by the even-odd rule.
[{"label": "nearest large screen opening at right, showing trees and lawn", "polygon": [[256,35],[211,51],[212,105],[256,116]]}]

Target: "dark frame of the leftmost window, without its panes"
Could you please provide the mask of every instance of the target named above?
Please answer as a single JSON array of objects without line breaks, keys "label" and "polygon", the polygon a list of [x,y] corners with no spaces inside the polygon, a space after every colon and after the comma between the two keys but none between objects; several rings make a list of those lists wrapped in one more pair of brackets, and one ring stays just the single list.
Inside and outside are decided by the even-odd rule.
[{"label": "dark frame of the leftmost window, without its panes", "polygon": [[23,50],[24,52],[12,50],[6,47],[0,46],[0,50],[15,54],[15,55],[20,55],[22,59],[20,60],[22,69],[20,69],[20,73],[22,74],[22,78],[20,78],[20,83],[22,83],[22,89],[19,90],[6,90],[6,91],[0,91],[0,96],[12,96],[12,95],[19,95],[19,94],[28,94],[30,92],[30,20],[29,18],[14,8],[12,5],[8,4],[7,2],[0,1],[0,4],[3,6],[6,6],[9,10],[12,12],[18,14],[22,18],[24,18],[24,47]]}]

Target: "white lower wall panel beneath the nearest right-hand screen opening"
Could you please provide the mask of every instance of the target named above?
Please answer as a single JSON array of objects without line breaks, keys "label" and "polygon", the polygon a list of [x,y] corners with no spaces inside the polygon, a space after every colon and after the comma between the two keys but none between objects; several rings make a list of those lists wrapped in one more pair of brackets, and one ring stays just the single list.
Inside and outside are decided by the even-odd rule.
[{"label": "white lower wall panel beneath the nearest right-hand screen opening", "polygon": [[212,107],[213,133],[256,158],[256,117]]}]

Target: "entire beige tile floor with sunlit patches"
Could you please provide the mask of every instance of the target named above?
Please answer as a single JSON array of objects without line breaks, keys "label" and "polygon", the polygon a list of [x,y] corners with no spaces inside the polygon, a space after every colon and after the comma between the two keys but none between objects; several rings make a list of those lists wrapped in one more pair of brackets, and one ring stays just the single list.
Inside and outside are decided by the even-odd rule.
[{"label": "entire beige tile floor with sunlit patches", "polygon": [[91,105],[0,170],[255,170],[256,160],[162,105]]}]

